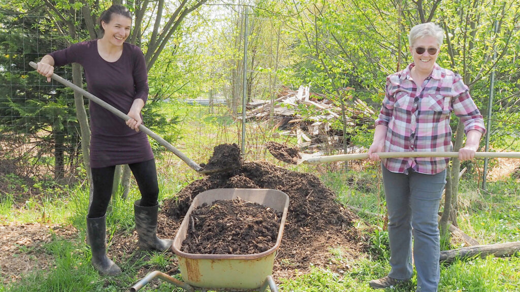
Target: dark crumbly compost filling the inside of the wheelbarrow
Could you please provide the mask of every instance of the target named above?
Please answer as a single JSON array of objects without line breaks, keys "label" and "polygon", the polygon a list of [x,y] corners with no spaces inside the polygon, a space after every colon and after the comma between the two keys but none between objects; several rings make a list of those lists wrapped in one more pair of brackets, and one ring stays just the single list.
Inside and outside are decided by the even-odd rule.
[{"label": "dark crumbly compost filling the inside of the wheelbarrow", "polygon": [[282,214],[240,198],[191,211],[181,250],[189,254],[253,255],[274,247]]}]

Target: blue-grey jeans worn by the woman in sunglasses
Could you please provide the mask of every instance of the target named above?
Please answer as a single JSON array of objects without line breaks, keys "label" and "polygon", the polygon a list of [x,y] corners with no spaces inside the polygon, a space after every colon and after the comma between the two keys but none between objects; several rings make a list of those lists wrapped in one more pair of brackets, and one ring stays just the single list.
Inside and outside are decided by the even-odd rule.
[{"label": "blue-grey jeans worn by the woman in sunglasses", "polygon": [[413,259],[417,291],[436,292],[439,285],[439,229],[437,214],[446,184],[446,170],[436,175],[397,174],[384,166],[383,184],[388,208],[390,266],[388,276],[408,280]]}]

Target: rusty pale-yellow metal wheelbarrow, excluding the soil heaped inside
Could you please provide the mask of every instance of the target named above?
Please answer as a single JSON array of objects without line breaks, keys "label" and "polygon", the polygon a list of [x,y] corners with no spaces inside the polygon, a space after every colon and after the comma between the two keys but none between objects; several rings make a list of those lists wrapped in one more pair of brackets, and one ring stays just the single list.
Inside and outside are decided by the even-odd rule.
[{"label": "rusty pale-yellow metal wheelbarrow, excluding the soil heaped inside", "polygon": [[[252,255],[188,254],[181,251],[181,245],[188,234],[190,215],[194,208],[203,204],[212,205],[218,200],[237,198],[258,203],[282,213],[275,246],[263,253]],[[179,261],[183,281],[162,272],[153,271],[135,284],[130,291],[138,291],[158,277],[188,292],[208,290],[264,292],[267,287],[271,292],[278,292],[278,287],[271,274],[276,251],[282,241],[283,225],[287,218],[288,208],[289,196],[278,190],[214,189],[198,194],[180,224],[172,246]]]}]

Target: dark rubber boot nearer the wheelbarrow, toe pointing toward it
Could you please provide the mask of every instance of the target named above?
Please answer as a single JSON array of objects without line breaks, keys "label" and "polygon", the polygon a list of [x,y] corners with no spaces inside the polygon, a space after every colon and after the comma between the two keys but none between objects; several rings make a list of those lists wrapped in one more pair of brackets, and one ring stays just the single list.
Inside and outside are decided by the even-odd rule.
[{"label": "dark rubber boot nearer the wheelbarrow, toe pointing toward it", "polygon": [[151,207],[139,206],[141,200],[134,202],[135,228],[139,234],[138,245],[143,250],[164,251],[171,249],[173,240],[162,240],[157,237],[157,215],[159,205]]}]

